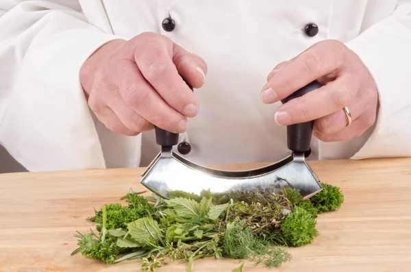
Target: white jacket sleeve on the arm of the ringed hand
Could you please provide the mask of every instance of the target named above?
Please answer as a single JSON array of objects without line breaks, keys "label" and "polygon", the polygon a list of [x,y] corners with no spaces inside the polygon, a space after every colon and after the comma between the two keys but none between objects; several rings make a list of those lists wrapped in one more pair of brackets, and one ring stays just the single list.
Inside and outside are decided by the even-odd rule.
[{"label": "white jacket sleeve on the arm of the ringed hand", "polygon": [[346,43],[368,67],[379,94],[373,132],[352,159],[411,156],[411,1]]}]

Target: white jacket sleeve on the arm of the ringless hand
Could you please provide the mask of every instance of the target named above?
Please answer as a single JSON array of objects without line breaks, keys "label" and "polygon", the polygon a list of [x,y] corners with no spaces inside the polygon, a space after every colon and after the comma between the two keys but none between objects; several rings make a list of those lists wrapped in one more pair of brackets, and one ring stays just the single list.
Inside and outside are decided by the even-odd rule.
[{"label": "white jacket sleeve on the arm of the ringless hand", "polygon": [[105,167],[79,69],[116,38],[77,0],[0,0],[0,144],[27,170]]}]

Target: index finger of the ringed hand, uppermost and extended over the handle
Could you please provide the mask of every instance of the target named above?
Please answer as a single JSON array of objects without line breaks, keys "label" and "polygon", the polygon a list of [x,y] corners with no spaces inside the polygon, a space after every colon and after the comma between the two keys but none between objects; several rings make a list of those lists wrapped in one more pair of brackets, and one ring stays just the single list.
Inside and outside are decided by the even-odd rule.
[{"label": "index finger of the ringed hand, uppermost and extended over the handle", "polygon": [[325,42],[304,51],[288,66],[275,73],[262,90],[264,103],[284,99],[310,82],[338,70],[343,64],[342,54],[338,51],[342,48],[329,43]]}]

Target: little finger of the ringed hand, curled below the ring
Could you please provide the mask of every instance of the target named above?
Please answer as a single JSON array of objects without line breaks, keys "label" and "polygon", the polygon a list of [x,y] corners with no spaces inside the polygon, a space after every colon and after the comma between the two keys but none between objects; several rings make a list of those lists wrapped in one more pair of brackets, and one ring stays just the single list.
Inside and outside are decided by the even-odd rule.
[{"label": "little finger of the ringed hand, curled below the ring", "polygon": [[361,120],[361,117],[353,121],[349,127],[345,127],[340,131],[334,134],[322,134],[320,132],[313,132],[313,135],[316,136],[319,140],[323,142],[342,142],[345,140],[350,140],[351,138],[357,138],[366,132],[366,129],[369,126],[364,126],[364,121]]}]

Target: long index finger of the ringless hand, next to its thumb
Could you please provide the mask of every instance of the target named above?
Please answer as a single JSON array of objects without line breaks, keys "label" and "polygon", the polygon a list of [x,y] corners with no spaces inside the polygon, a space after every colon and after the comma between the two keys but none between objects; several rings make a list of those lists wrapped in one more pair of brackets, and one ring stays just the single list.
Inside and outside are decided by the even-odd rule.
[{"label": "long index finger of the ringless hand, next to its thumb", "polygon": [[[145,37],[142,37],[145,38]],[[160,94],[172,108],[188,117],[197,115],[198,101],[194,93],[179,75],[173,56],[173,42],[160,36],[140,42],[134,51],[134,59],[147,82]],[[191,64],[192,69],[196,64]],[[198,73],[198,71],[197,71]],[[186,78],[193,82],[192,78]]]}]

